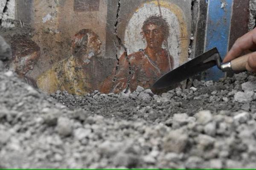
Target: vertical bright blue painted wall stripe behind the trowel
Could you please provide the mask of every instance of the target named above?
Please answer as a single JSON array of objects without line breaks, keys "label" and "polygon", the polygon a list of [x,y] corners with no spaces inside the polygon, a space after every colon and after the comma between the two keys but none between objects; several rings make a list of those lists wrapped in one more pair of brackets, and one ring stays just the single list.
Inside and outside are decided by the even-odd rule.
[{"label": "vertical bright blue painted wall stripe behind the trowel", "polygon": [[[232,0],[208,0],[205,51],[217,47],[221,57],[225,57],[228,50],[231,14]],[[218,80],[221,77],[224,77],[224,73],[215,66],[206,71],[205,80]]]}]

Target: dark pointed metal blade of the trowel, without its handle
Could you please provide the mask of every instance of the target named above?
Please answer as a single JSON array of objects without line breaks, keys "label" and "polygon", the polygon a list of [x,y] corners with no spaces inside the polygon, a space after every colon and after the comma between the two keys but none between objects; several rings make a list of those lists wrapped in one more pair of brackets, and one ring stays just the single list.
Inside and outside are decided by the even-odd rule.
[{"label": "dark pointed metal blade of the trowel, without its handle", "polygon": [[181,65],[178,68],[166,73],[160,79],[158,79],[153,88],[161,89],[161,88],[168,88],[177,82],[181,82],[189,77],[192,77],[195,74],[198,74],[202,71],[207,70],[216,65],[216,61],[212,60],[210,62],[205,62],[209,57],[214,54],[218,54],[217,48],[212,48],[211,50],[201,54],[198,57],[186,62],[185,64]]}]

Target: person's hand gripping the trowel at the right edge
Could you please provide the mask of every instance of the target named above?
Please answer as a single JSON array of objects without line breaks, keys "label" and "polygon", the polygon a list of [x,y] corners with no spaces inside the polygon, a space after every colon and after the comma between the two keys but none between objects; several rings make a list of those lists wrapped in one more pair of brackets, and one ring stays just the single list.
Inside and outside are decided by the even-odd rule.
[{"label": "person's hand gripping the trowel at the right edge", "polygon": [[[236,40],[223,62],[229,62],[247,50],[256,51],[256,28]],[[246,63],[246,70],[256,72],[256,52],[251,52],[247,55],[249,58]]]}]

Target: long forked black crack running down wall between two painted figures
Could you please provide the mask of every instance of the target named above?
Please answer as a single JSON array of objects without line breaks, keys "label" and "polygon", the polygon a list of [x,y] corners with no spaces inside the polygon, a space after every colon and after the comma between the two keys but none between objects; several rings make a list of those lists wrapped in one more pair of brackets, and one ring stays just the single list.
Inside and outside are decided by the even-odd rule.
[{"label": "long forked black crack running down wall between two painted figures", "polygon": [[117,74],[117,71],[120,67],[119,65],[119,57],[118,57],[118,49],[120,48],[123,48],[124,49],[124,55],[125,55],[125,59],[128,60],[128,64],[129,64],[129,77],[128,77],[128,81],[127,81],[127,85],[126,85],[126,88],[125,88],[125,93],[128,92],[129,90],[129,87],[130,87],[130,81],[131,81],[131,63],[128,59],[128,55],[127,55],[127,48],[125,47],[125,45],[122,43],[122,40],[121,38],[118,36],[117,34],[117,26],[118,26],[118,19],[119,19],[119,12],[120,12],[120,7],[121,7],[121,3],[120,3],[121,0],[118,1],[118,8],[117,8],[117,11],[116,11],[116,23],[114,25],[115,27],[115,35],[116,35],[116,40],[118,41],[119,43],[119,47],[116,45],[116,41],[114,41],[114,45],[115,45],[115,48],[116,48],[116,60],[117,60],[117,64],[116,64],[116,72],[114,74],[114,77],[113,77],[113,87],[111,89],[111,91],[113,91],[114,89],[114,86],[115,86],[115,82],[116,82],[116,74]]}]

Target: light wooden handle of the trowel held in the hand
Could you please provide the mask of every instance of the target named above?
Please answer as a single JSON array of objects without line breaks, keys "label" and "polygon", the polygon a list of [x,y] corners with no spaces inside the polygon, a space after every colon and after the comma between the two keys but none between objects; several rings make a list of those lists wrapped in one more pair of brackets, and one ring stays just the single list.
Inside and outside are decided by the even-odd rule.
[{"label": "light wooden handle of the trowel held in the hand", "polygon": [[248,61],[248,58],[250,57],[250,55],[244,55],[242,57],[233,59],[230,63],[231,63],[231,68],[234,72],[242,72],[246,70],[246,64]]}]

